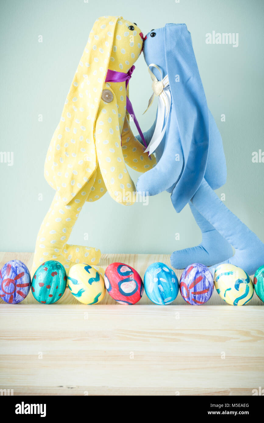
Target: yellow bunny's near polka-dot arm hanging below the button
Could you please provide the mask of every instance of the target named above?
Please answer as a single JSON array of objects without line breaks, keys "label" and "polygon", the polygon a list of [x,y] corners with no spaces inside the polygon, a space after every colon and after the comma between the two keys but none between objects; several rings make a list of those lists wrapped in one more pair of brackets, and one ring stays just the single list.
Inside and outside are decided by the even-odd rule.
[{"label": "yellow bunny's near polka-dot arm hanging below the button", "polygon": [[118,203],[135,202],[135,185],[124,162],[115,94],[110,103],[100,102],[95,125],[99,168],[110,196]]}]

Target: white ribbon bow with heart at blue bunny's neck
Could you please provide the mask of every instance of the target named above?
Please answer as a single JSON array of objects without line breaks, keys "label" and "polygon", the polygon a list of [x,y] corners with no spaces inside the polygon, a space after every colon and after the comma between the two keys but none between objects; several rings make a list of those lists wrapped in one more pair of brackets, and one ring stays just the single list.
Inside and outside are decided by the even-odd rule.
[{"label": "white ribbon bow with heart at blue bunny's neck", "polygon": [[[154,73],[150,70],[150,67],[152,66],[158,69],[162,77],[162,71],[159,69],[159,66],[155,65],[154,63],[151,63],[148,66],[148,72],[150,73],[151,79],[153,81],[151,85],[153,94],[148,101],[148,108],[145,110],[144,113],[146,113],[146,111],[149,109],[149,107],[153,103],[154,96],[159,97],[159,99],[158,99],[158,115],[157,115],[157,122],[156,122],[155,130],[154,130],[154,134],[152,135],[151,141],[148,144],[148,148],[146,148],[145,150],[145,151],[148,151],[149,155],[152,154],[156,150],[157,146],[159,145],[159,143],[161,143],[162,138],[164,137],[164,134],[168,125],[168,114],[170,111],[170,104],[171,104],[168,75],[166,75],[162,81],[157,80]],[[164,124],[164,120],[165,120],[165,124]],[[163,124],[164,124],[164,127],[163,127]]]}]

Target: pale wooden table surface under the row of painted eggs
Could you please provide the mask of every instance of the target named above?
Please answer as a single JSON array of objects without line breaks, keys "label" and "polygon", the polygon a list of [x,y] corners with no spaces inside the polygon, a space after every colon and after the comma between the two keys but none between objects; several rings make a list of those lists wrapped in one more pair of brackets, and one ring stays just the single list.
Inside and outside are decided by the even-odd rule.
[{"label": "pale wooden table surface under the row of painted eggs", "polygon": [[[31,268],[33,253],[0,253]],[[143,277],[169,255],[104,254]],[[178,277],[181,271],[176,271]],[[119,305],[106,294],[83,305],[68,288],[53,305],[31,292],[20,304],[0,301],[0,389],[14,395],[252,395],[264,388],[264,308],[230,306],[214,290],[202,306],[179,294],[172,305]]]}]

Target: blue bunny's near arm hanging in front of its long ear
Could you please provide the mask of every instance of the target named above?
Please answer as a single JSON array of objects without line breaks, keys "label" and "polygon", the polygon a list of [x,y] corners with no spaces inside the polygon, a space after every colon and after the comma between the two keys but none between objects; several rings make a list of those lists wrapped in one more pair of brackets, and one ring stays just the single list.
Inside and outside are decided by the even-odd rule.
[{"label": "blue bunny's near arm hanging in front of its long ear", "polygon": [[170,113],[165,133],[165,146],[157,165],[137,180],[137,191],[156,195],[170,188],[178,180],[183,167],[183,153],[174,113]]}]

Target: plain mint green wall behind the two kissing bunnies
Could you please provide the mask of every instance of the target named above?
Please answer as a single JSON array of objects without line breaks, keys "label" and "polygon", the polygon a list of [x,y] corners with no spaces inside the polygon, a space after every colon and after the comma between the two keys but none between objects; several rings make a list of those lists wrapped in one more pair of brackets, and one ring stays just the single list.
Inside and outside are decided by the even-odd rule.
[{"label": "plain mint green wall behind the two kissing bunnies", "polygon": [[[47,148],[88,34],[101,15],[124,16],[144,34],[166,22],[187,24],[223,137],[228,179],[218,195],[225,193],[226,206],[264,241],[264,163],[252,162],[253,151],[264,151],[262,0],[2,0],[1,9],[0,151],[13,151],[14,165],[0,163],[0,250],[34,250],[54,195],[43,176]],[[239,33],[239,46],[206,44],[205,34],[213,30]],[[150,95],[151,80],[140,56],[130,98],[143,130],[154,120],[154,106],[142,116]],[[223,113],[225,122],[220,121]],[[138,174],[131,175],[136,181]],[[176,214],[167,192],[149,198],[148,206],[131,207],[118,205],[107,193],[85,204],[69,241],[104,253],[171,253],[199,243],[201,234],[188,206]]]}]

